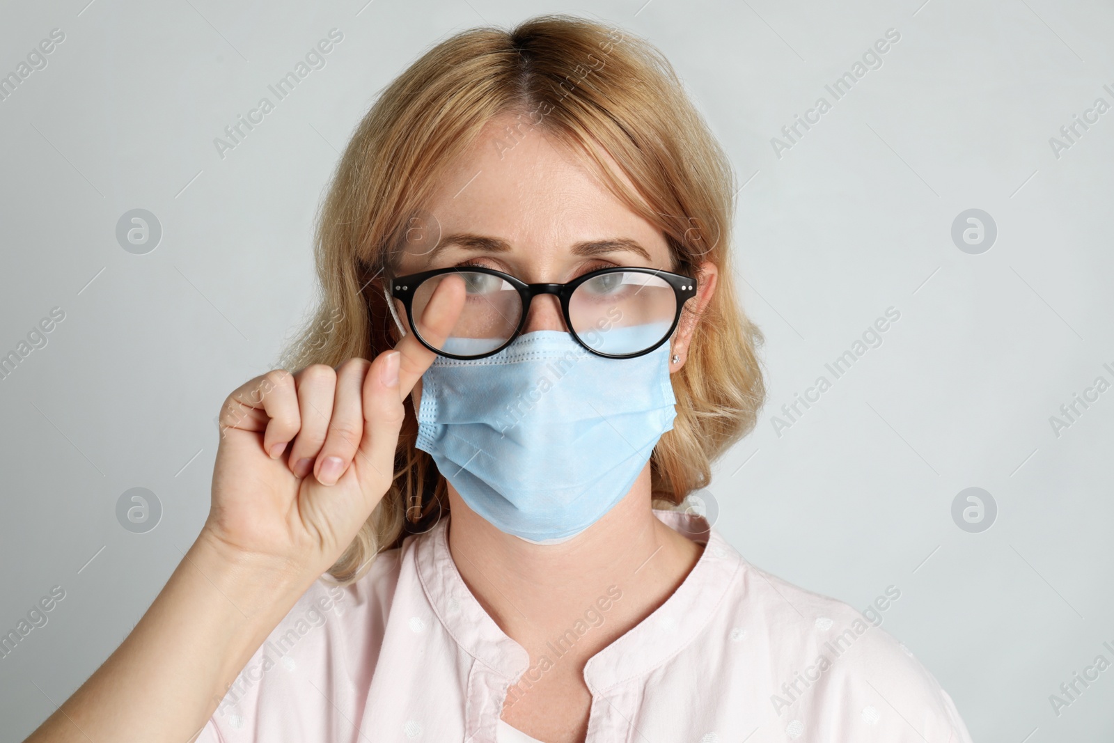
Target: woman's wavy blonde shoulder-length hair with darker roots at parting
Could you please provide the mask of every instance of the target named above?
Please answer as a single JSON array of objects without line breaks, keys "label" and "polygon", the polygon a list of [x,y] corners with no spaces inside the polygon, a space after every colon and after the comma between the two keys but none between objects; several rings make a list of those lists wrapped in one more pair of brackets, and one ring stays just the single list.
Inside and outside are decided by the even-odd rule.
[{"label": "woman's wavy blonde shoulder-length hair with darker roots at parting", "polygon": [[[704,260],[719,267],[687,363],[672,375],[673,430],[651,457],[653,505],[678,506],[709,485],[712,461],[754,427],[765,397],[756,355],[762,334],[735,293],[731,164],[670,62],[628,32],[564,14],[510,30],[475,28],[437,43],[388,85],[355,129],[317,212],[321,296],[280,366],[336,366],[395,344],[384,277],[447,164],[487,121],[508,114],[517,123],[508,141],[537,130],[582,153],[612,193],[662,231],[673,271],[695,276]],[[598,148],[638,193],[609,170]],[[340,585],[449,511],[444,478],[414,448],[409,398],[405,409],[391,488],[329,569]]]}]

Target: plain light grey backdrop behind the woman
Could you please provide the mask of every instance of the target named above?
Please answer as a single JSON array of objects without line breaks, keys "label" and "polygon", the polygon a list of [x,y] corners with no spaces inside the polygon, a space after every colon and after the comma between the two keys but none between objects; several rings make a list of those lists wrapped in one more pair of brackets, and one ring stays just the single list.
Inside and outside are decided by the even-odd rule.
[{"label": "plain light grey backdrop behind the woman", "polygon": [[[853,606],[898,587],[883,627],[975,740],[1114,736],[1114,669],[1058,716],[1048,700],[1114,661],[1114,391],[1049,423],[1114,382],[1114,111],[1049,145],[1114,104],[1110,3],[365,1],[4,3],[0,74],[66,40],[0,102],[0,353],[51,307],[66,319],[0,380],[0,630],[52,586],[66,598],[0,659],[0,739],[88,677],[196,536],[214,417],[312,304],[313,214],[375,92],[457,30],[555,10],[654,41],[746,184],[734,250],[770,397],[716,469],[716,526]],[[333,27],[328,65],[222,159],[214,137]],[[889,28],[882,67],[779,158],[771,138]],[[133,208],[163,226],[146,255],[115,236]],[[951,238],[969,208],[998,229],[978,255]],[[889,306],[881,346],[779,436],[772,416]],[[116,517],[135,487],[164,509],[146,534]],[[998,506],[979,534],[951,517],[968,487]]]}]

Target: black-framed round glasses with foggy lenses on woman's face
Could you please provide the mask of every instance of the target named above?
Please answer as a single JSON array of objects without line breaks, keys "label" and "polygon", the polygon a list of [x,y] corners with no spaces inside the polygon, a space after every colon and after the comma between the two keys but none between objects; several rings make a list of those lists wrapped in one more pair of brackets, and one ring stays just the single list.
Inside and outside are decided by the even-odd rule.
[{"label": "black-framed round glasses with foggy lenses on woman's face", "polygon": [[[414,320],[424,316],[434,293],[451,276],[463,281],[463,307],[444,342],[434,344]],[[565,284],[527,284],[486,266],[434,268],[391,281],[391,296],[402,301],[418,340],[450,359],[482,359],[510,345],[539,294],[557,296],[565,326],[587,351],[631,359],[649,353],[673,334],[696,285],[688,276],[636,266],[599,268]]]}]

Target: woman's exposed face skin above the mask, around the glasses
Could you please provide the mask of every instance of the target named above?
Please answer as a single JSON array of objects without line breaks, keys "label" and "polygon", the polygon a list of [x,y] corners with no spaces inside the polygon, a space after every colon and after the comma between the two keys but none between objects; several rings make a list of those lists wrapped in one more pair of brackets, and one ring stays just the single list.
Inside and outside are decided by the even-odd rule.
[{"label": "woman's exposed face skin above the mask, around the glasses", "polygon": [[[561,145],[514,117],[490,121],[477,145],[450,169],[412,231],[395,275],[457,265],[481,265],[527,283],[564,283],[596,268],[673,268],[668,245],[656,227],[597,184]],[[514,129],[510,129],[514,130]],[[608,158],[609,159],[609,158]],[[609,159],[616,170],[618,164]],[[627,187],[633,184],[624,176]],[[714,266],[702,264],[703,305],[714,287]],[[709,280],[711,273],[711,281]],[[395,309],[407,332],[401,302]],[[524,333],[566,330],[554,295],[536,296]],[[681,326],[674,352],[683,352],[691,327]],[[676,371],[684,360],[671,364]],[[421,405],[421,382],[413,389]]]}]

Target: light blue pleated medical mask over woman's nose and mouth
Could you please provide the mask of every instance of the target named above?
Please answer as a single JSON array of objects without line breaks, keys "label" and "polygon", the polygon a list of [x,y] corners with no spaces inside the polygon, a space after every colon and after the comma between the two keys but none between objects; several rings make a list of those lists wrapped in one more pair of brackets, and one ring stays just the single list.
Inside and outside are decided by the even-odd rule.
[{"label": "light blue pleated medical mask over woman's nose and mouth", "polygon": [[[612,327],[605,338],[662,332]],[[450,339],[448,348],[465,353],[483,342]],[[629,492],[673,428],[668,353],[666,342],[633,359],[606,359],[565,331],[543,330],[486,359],[439,355],[422,375],[417,447],[499,530],[535,544],[566,541]]]}]

